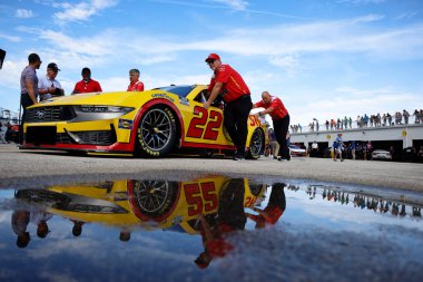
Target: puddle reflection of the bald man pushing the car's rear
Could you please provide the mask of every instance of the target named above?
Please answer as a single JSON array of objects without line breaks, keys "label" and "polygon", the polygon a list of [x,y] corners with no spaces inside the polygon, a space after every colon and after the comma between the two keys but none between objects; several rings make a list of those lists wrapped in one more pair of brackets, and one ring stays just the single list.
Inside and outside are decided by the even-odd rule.
[{"label": "puddle reflection of the bald man pushing the car's rear", "polygon": [[276,224],[286,208],[284,183],[275,183],[272,186],[268,204],[264,210],[253,207],[252,210],[258,215],[246,213],[248,218],[256,222],[256,228],[264,228],[267,224]]}]

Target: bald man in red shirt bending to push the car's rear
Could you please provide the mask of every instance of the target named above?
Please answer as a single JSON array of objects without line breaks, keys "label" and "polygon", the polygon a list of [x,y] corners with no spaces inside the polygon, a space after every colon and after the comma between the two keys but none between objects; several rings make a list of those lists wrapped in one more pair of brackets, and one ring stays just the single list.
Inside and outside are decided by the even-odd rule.
[{"label": "bald man in red shirt bending to push the car's rear", "polygon": [[256,117],[269,114],[273,120],[273,127],[276,135],[276,140],[279,144],[277,161],[289,161],[289,149],[286,142],[286,134],[289,128],[289,114],[282,100],[275,96],[270,96],[268,91],[262,93],[262,100],[254,104],[253,108],[265,108],[257,114]]}]

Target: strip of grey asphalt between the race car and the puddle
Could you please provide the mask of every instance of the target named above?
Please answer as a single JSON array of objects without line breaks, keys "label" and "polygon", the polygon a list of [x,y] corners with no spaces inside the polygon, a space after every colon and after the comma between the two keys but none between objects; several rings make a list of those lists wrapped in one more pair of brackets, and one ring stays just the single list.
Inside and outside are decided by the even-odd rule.
[{"label": "strip of grey asphalt between the race car and the puddle", "polygon": [[157,177],[177,178],[223,174],[257,181],[298,179],[365,185],[381,188],[423,191],[423,164],[378,161],[333,162],[298,157],[278,162],[170,156],[159,159],[79,156],[65,152],[24,150],[14,144],[0,145],[0,187],[56,184],[96,178]]}]

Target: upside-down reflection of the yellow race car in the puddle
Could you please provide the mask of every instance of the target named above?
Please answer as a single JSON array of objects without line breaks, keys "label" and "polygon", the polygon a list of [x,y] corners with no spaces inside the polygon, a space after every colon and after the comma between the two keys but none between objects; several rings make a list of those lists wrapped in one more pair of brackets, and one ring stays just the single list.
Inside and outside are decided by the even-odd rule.
[{"label": "upside-down reflection of the yellow race car in the puddle", "polygon": [[[129,179],[20,189],[17,197],[42,205],[48,213],[117,226],[160,227],[196,233],[198,215],[214,214],[219,195],[230,185],[223,176],[187,182]],[[253,206],[266,185],[244,178],[244,206]]]}]

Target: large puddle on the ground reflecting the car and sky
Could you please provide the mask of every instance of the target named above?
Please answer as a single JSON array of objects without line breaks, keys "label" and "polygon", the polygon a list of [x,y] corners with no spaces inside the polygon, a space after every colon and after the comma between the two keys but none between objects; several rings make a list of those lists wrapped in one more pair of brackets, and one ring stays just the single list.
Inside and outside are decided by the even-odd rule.
[{"label": "large puddle on the ground reflecting the car and sky", "polygon": [[421,281],[423,194],[205,176],[0,189],[1,281]]}]

